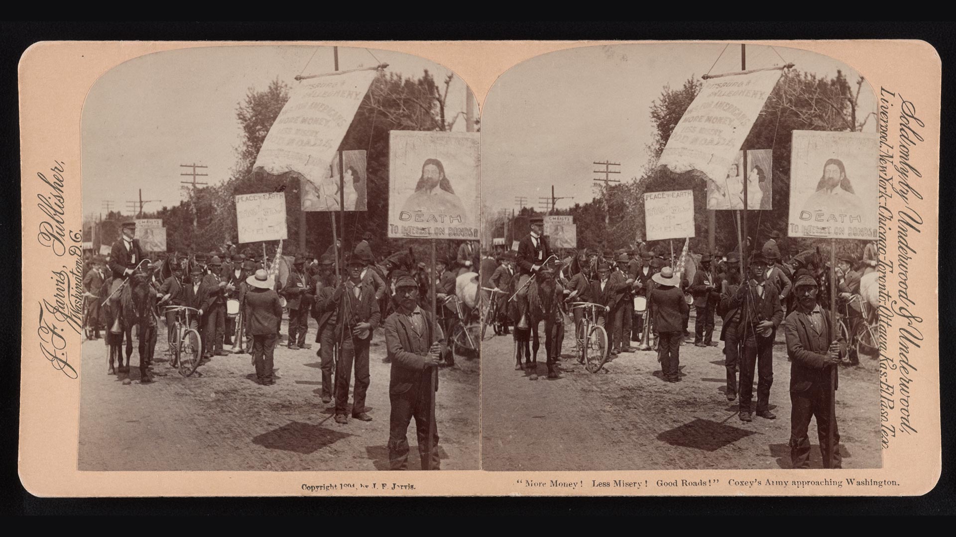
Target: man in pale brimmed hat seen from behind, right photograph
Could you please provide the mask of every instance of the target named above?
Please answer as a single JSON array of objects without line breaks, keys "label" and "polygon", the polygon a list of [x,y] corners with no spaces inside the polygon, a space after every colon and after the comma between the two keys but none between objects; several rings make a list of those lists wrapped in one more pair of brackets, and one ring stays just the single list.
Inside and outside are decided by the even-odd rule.
[{"label": "man in pale brimmed hat seen from behind, right photograph", "polygon": [[681,280],[674,269],[664,267],[651,278],[656,284],[651,293],[654,327],[658,333],[658,361],[667,382],[681,381],[681,339],[684,337],[684,314],[689,310],[681,290]]}]

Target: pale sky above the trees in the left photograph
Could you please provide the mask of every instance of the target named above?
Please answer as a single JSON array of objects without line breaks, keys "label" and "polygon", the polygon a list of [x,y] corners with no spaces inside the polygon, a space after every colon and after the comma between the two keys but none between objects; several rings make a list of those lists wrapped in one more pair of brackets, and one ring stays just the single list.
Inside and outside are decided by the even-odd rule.
[{"label": "pale sky above the trees in the left photograph", "polygon": [[[371,67],[379,60],[389,64],[387,71],[408,77],[427,69],[440,85],[450,73],[410,54],[338,49],[341,70]],[[83,106],[83,214],[105,213],[104,200],[129,214],[127,202],[138,199],[140,188],[143,200],[161,201],[145,204],[145,211],[179,204],[184,199],[180,181],[190,180],[180,174],[192,171],[180,164],[207,165],[197,172],[209,176],[197,181],[228,180],[242,135],[235,110],[248,89],[265,90],[276,77],[294,86],[295,75],[331,71],[332,47],[310,46],[185,49],[148,54],[110,70]],[[456,76],[446,118],[465,109],[465,96],[465,83]],[[464,118],[454,130],[465,130]]]}]

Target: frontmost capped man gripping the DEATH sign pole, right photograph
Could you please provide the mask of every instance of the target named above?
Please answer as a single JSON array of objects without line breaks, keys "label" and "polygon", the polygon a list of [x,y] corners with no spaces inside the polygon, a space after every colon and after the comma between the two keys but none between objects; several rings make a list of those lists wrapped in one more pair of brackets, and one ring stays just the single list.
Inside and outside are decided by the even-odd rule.
[{"label": "frontmost capped man gripping the DEATH sign pole, right photograph", "polygon": [[[830,427],[834,429],[834,445],[839,445],[836,421],[830,421],[831,371],[838,371],[836,366],[845,353],[846,342],[834,332],[829,311],[816,303],[814,277],[801,269],[794,280],[796,309],[784,321],[787,355],[791,359],[790,455],[793,468],[809,468],[811,445],[807,432],[811,418],[816,419],[816,436],[824,461],[830,452]],[[836,387],[835,383],[834,392]],[[830,467],[842,467],[838,448],[831,452]]]}]

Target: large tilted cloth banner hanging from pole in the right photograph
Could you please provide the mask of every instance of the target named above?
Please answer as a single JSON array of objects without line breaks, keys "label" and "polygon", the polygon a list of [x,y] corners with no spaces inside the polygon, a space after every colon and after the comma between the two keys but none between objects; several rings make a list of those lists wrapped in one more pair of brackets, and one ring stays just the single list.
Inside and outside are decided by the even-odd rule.
[{"label": "large tilted cloth banner hanging from pole in the right photograph", "polygon": [[658,165],[676,173],[700,170],[711,181],[723,181],[782,74],[774,69],[707,79],[667,139]]}]

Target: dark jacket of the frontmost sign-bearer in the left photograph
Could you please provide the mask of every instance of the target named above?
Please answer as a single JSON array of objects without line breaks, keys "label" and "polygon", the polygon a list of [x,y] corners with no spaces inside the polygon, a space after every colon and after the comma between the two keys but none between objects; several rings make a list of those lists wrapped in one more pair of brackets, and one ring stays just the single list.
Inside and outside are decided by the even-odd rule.
[{"label": "dark jacket of the frontmost sign-bearer in the left photograph", "polygon": [[[445,335],[435,324],[434,316],[421,308],[418,311],[425,319],[422,333],[416,332],[415,325],[400,311],[385,319],[385,349],[392,361],[392,376],[388,383],[390,394],[401,395],[413,388],[418,393],[427,386],[431,368],[424,367],[424,358],[433,342],[445,345]],[[438,382],[435,391],[438,391]]]}]

